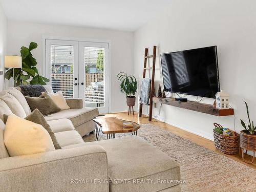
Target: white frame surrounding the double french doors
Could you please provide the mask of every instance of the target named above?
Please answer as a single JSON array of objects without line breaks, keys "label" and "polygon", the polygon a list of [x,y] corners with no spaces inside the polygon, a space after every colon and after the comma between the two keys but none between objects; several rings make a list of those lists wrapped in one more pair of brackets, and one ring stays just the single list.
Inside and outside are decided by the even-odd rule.
[{"label": "white frame surrounding the double french doors", "polygon": [[[46,65],[46,40],[47,39],[52,39],[52,40],[67,40],[67,41],[85,41],[85,42],[105,42],[109,44],[109,54],[108,54],[108,63],[109,63],[109,82],[108,82],[108,93],[106,92],[106,94],[109,95],[109,112],[112,111],[112,102],[111,102],[111,90],[112,90],[112,86],[111,86],[111,77],[112,77],[112,73],[111,73],[111,40],[110,39],[92,39],[92,38],[77,38],[77,37],[63,37],[63,36],[52,36],[52,35],[43,35],[42,36],[42,75],[47,76],[46,71],[47,69],[47,65]],[[50,82],[48,82],[47,84],[50,84]]]}]

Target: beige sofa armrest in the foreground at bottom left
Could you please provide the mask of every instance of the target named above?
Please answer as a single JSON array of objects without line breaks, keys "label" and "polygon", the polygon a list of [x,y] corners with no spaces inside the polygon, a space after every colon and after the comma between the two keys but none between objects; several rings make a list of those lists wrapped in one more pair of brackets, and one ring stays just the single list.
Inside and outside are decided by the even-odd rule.
[{"label": "beige sofa armrest in the foreground at bottom left", "polygon": [[99,145],[0,159],[1,191],[108,191],[108,182],[98,179],[108,180]]}]

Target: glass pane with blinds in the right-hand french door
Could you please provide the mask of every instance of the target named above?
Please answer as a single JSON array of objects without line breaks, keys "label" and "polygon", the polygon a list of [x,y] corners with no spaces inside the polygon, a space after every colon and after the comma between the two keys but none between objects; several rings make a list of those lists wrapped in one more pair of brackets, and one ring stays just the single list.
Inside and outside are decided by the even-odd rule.
[{"label": "glass pane with blinds in the right-hand french door", "polygon": [[85,47],[85,93],[86,106],[104,106],[104,48]]}]

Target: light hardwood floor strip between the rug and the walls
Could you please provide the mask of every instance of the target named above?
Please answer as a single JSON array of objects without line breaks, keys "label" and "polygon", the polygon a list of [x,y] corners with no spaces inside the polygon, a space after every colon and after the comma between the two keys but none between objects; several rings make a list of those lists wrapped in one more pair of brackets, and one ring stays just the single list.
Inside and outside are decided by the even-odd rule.
[{"label": "light hardwood floor strip between the rug and the walls", "polygon": [[[134,121],[134,122],[137,122],[139,124],[152,123],[156,126],[159,126],[161,129],[170,131],[173,134],[179,135],[179,136],[181,136],[185,139],[188,139],[188,140],[193,141],[193,142],[195,142],[199,145],[202,145],[202,146],[208,148],[209,150],[212,150],[216,153],[219,153],[219,154],[224,155],[224,156],[226,156],[230,159],[236,160],[240,163],[243,163],[243,164],[245,164],[249,167],[252,167],[252,168],[256,169],[256,161],[254,161],[254,163],[252,163],[252,164],[247,164],[247,163],[242,161],[242,159],[239,157],[239,154],[238,155],[225,155],[225,154],[221,153],[220,151],[218,151],[214,146],[214,142],[211,141],[211,140],[205,139],[205,138],[200,137],[198,135],[195,135],[193,133],[189,133],[187,131],[184,131],[184,130],[179,129],[175,126],[169,125],[167,123],[161,122],[159,120],[152,119],[152,121],[150,122],[150,121],[148,121],[148,118],[146,116],[138,117],[138,114],[136,112],[134,112],[134,115],[131,115],[131,114],[128,115],[127,113],[105,114],[105,117],[117,117],[117,118],[120,118],[120,119],[123,119],[123,120]],[[251,156],[246,155],[246,159],[247,160],[251,159]]]}]

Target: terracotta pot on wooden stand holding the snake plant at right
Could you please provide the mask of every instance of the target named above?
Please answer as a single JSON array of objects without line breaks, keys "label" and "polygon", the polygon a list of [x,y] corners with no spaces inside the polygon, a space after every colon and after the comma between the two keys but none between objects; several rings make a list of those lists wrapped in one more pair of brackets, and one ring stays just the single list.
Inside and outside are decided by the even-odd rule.
[{"label": "terracotta pot on wooden stand holding the snake plant at right", "polygon": [[[241,147],[243,161],[249,164],[253,163],[255,152],[256,152],[256,133],[251,135],[251,134],[248,134],[246,130],[242,130],[240,132],[240,147]],[[253,152],[252,161],[247,161],[244,159],[244,150],[246,154],[248,151]]]}]

